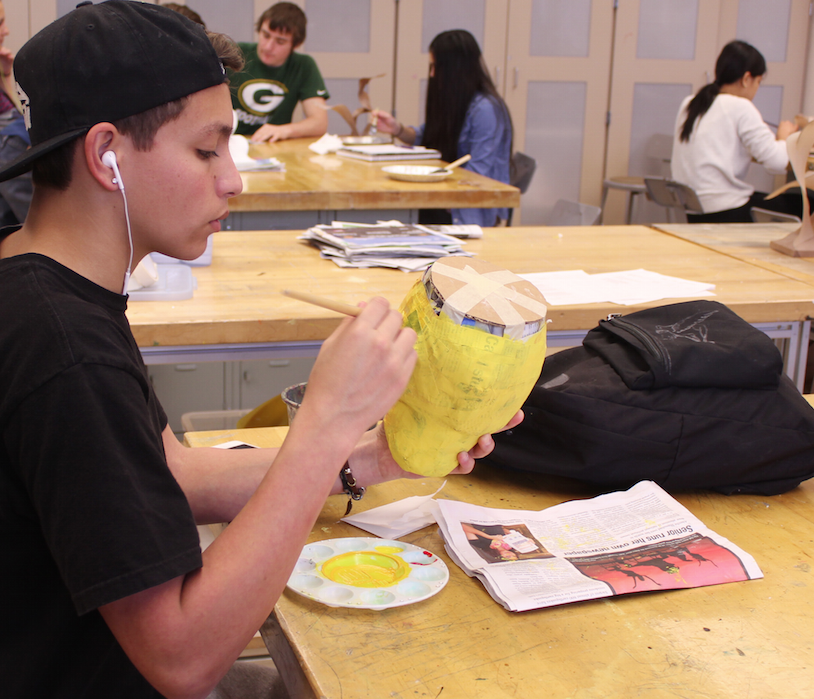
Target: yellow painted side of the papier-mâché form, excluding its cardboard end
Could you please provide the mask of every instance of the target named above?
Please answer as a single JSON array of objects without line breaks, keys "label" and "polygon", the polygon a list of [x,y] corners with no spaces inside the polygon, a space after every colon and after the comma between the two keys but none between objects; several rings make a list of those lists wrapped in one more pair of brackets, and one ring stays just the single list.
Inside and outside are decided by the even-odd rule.
[{"label": "yellow painted side of the papier-m\u00e2ch\u00e9 form, excluding its cardboard end", "polygon": [[400,310],[418,336],[418,361],[384,416],[387,442],[405,471],[445,476],[457,468],[459,452],[523,406],[540,377],[546,330],[515,340],[458,325],[435,314],[423,284],[413,286]]}]

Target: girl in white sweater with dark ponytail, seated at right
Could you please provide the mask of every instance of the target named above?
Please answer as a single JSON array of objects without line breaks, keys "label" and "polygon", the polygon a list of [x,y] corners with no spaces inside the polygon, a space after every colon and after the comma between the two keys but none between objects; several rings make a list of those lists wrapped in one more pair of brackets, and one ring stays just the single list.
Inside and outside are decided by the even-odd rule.
[{"label": "girl in white sweater with dark ponytail, seated at right", "polygon": [[752,160],[772,174],[788,166],[786,138],[797,130],[782,121],[777,134],[763,121],[752,100],[766,61],[754,46],[732,41],[715,64],[715,82],[684,100],[673,139],[673,179],[695,190],[703,214],[688,214],[690,223],[749,222],[749,210],[759,206],[800,216],[799,192],[764,201],[745,181]]}]

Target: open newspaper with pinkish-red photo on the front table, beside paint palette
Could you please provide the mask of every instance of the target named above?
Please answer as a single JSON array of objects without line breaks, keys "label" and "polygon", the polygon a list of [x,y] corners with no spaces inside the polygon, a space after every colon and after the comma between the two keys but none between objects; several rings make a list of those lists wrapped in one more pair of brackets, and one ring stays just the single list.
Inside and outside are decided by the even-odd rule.
[{"label": "open newspaper with pinkish-red photo on the front table, beside paint palette", "polygon": [[540,511],[437,503],[449,555],[511,611],[763,577],[652,481]]}]

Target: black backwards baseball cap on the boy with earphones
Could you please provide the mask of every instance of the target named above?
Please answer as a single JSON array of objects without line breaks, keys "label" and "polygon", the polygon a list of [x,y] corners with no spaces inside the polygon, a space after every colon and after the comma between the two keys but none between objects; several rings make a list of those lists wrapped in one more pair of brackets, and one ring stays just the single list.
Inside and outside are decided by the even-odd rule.
[{"label": "black backwards baseball cap on the boy with earphones", "polygon": [[220,85],[226,78],[203,27],[137,0],[82,2],[34,35],[14,59],[31,148],[0,168],[0,182],[86,134]]}]

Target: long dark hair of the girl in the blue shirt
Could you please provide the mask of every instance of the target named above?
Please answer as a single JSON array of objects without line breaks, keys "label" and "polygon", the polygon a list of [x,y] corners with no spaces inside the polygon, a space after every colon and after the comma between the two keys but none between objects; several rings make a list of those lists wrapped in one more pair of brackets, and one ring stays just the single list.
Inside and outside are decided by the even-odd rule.
[{"label": "long dark hair of the girl in the blue shirt", "polygon": [[476,94],[483,93],[505,114],[511,116],[489,77],[475,37],[464,29],[441,32],[430,44],[435,61],[434,75],[427,85],[427,112],[422,144],[441,151],[451,162],[458,157],[458,138],[466,110]]}]

